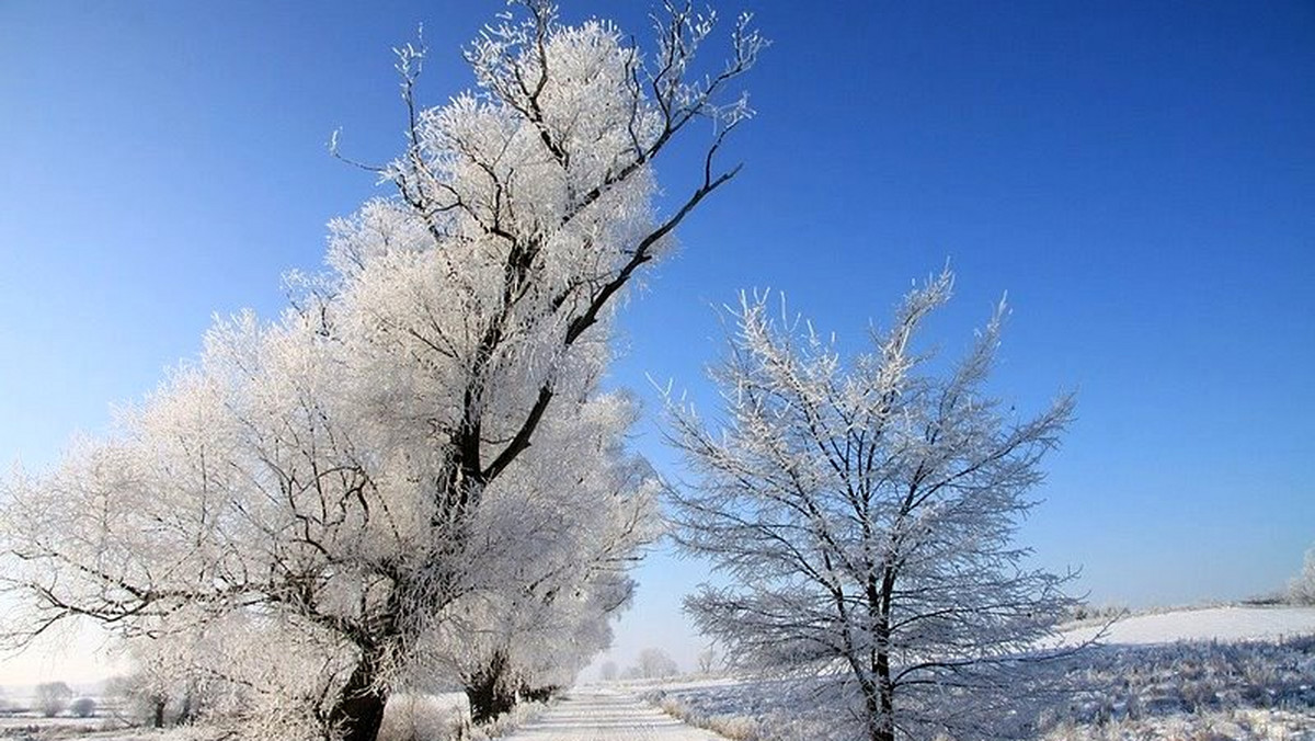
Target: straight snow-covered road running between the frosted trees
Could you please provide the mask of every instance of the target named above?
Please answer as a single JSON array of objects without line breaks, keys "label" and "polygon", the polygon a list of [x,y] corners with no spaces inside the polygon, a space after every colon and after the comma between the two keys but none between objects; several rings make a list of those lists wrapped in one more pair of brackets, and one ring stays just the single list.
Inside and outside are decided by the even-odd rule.
[{"label": "straight snow-covered road running between the frosted trees", "polygon": [[618,690],[573,690],[505,741],[725,741]]}]

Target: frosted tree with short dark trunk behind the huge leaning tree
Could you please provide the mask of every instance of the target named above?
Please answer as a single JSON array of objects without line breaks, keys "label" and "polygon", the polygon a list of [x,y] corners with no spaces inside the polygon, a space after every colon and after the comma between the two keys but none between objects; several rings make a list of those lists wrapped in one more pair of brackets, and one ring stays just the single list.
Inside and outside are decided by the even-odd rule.
[{"label": "frosted tree with short dark trunk behind the huge leaning tree", "polygon": [[[568,686],[594,653],[611,640],[609,625],[634,588],[625,575],[634,544],[656,537],[658,480],[642,459],[614,450],[598,462],[588,450],[617,446],[633,405],[601,396],[577,409],[593,422],[571,425],[567,440],[546,438],[551,467],[526,471],[527,487],[563,488],[554,496],[489,501],[496,533],[477,533],[488,559],[481,571],[498,574],[500,588],[484,590],[452,605],[438,652],[462,678],[476,721],[509,709],[517,695],[540,695]],[[579,450],[579,454],[572,454]],[[584,466],[572,466],[579,461]],[[610,463],[610,465],[609,465]],[[548,545],[527,553],[518,544],[552,533]],[[493,538],[498,540],[493,540]]]}]

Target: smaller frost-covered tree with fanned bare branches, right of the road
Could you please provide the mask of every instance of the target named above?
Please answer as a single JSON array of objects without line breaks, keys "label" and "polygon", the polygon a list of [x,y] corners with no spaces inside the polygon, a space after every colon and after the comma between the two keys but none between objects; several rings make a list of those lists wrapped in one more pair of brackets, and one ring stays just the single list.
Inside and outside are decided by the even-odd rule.
[{"label": "smaller frost-covered tree with fanned bare branches, right of the road", "polygon": [[982,692],[1072,605],[1013,537],[1073,400],[1019,419],[988,392],[1003,304],[938,371],[914,338],[951,287],[910,292],[852,359],[744,297],[711,372],[722,422],[671,404],[697,476],[675,537],[726,576],[686,609],[736,662],[815,673],[872,741],[982,734]]}]

